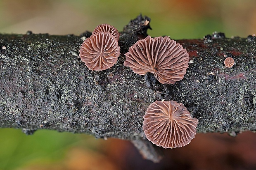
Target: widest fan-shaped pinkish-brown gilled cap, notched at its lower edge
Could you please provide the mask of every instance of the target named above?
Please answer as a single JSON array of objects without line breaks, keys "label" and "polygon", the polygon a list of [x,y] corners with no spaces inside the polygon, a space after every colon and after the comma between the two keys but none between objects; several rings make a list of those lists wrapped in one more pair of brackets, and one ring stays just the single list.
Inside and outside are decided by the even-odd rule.
[{"label": "widest fan-shaped pinkish-brown gilled cap, notched at its lower edge", "polygon": [[151,72],[162,84],[182,80],[189,62],[187,50],[169,37],[147,36],[131,46],[125,55],[125,66],[140,75]]}]

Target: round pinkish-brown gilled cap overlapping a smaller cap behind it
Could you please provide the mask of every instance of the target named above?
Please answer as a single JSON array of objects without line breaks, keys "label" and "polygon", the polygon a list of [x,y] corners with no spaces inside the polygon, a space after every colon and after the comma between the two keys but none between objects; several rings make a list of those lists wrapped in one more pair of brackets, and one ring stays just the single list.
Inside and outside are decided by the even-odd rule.
[{"label": "round pinkish-brown gilled cap overlapping a smaller cap behind it", "polygon": [[119,55],[118,41],[110,32],[97,32],[85,39],[79,54],[90,70],[97,71],[112,67]]}]

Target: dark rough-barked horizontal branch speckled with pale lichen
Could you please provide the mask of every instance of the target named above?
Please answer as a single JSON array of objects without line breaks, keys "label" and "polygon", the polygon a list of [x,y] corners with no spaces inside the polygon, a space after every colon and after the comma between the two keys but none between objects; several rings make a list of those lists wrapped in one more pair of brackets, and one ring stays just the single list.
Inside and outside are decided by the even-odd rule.
[{"label": "dark rough-barked horizontal branch speckled with pale lichen", "polygon": [[[178,40],[193,62],[183,80],[163,85],[123,66],[124,53],[147,36],[147,21],[138,16],[120,32],[121,55],[105,71],[90,71],[79,59],[90,32],[0,34],[0,127],[145,140],[145,110],[165,99],[183,103],[198,119],[198,133],[255,131],[256,38]],[[224,55],[234,67],[225,68]]]}]

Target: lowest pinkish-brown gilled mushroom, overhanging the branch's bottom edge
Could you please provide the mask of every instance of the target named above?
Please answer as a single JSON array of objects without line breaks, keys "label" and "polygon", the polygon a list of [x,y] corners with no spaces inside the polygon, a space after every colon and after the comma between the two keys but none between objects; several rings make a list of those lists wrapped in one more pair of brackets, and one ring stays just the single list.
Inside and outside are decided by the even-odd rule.
[{"label": "lowest pinkish-brown gilled mushroom, overhanging the branch's bottom edge", "polygon": [[196,135],[198,120],[176,101],[151,103],[143,118],[142,129],[147,139],[157,146],[183,147]]}]

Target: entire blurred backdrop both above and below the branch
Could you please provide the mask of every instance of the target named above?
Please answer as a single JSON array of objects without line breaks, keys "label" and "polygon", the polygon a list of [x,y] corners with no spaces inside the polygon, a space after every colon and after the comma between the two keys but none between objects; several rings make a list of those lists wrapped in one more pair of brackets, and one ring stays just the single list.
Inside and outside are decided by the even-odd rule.
[{"label": "entire blurred backdrop both above and below the branch", "polygon": [[[151,18],[148,34],[198,39],[256,33],[255,0],[0,0],[0,33],[75,34],[108,23],[123,30],[139,14]],[[255,170],[256,134],[197,134],[186,147],[164,149],[160,163],[144,160],[118,139],[38,130],[0,129],[0,170]]]}]

